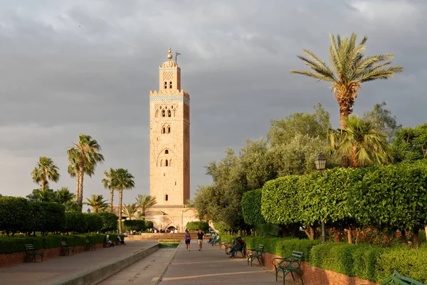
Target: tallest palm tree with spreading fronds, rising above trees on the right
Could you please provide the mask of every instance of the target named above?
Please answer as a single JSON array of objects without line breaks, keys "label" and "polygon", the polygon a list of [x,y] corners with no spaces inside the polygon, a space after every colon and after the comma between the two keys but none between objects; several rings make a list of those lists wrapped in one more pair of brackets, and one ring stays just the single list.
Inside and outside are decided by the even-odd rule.
[{"label": "tallest palm tree with spreading fronds, rising above trees on the right", "polygon": [[392,54],[380,54],[379,56],[364,56],[367,36],[362,38],[359,45],[356,44],[356,33],[350,38],[330,34],[330,62],[332,68],[307,49],[302,49],[307,54],[297,56],[314,71],[290,71],[290,73],[302,74],[319,81],[332,83],[332,90],[339,105],[339,126],[342,130],[346,128],[344,119],[352,114],[354,99],[361,83],[374,81],[376,79],[387,79],[396,73],[404,71],[401,66],[390,66]]}]

